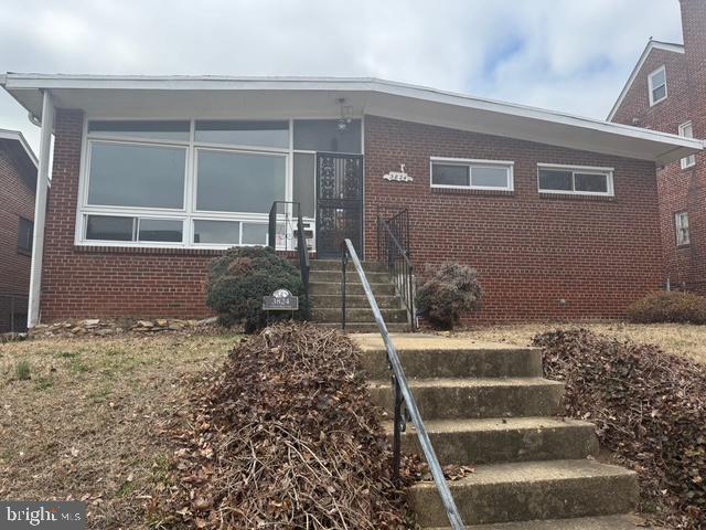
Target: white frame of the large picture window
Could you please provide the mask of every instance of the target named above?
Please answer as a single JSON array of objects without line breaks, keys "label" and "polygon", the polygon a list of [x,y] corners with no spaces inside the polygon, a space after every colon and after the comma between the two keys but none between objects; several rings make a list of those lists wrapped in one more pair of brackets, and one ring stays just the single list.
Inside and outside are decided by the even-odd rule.
[{"label": "white frame of the large picture window", "polygon": [[[261,146],[232,146],[224,144],[212,142],[196,142],[195,141],[195,124],[200,119],[213,119],[213,118],[169,118],[163,117],[149,117],[141,116],[140,118],[115,118],[110,116],[94,115],[84,116],[83,135],[82,135],[82,152],[81,152],[81,169],[78,178],[78,199],[76,209],[76,226],[74,233],[74,244],[76,246],[105,246],[105,247],[148,247],[148,248],[208,248],[208,250],[225,250],[232,246],[258,246],[246,244],[214,244],[214,243],[193,243],[194,237],[194,221],[237,221],[240,223],[255,223],[255,224],[268,224],[269,213],[252,213],[252,212],[210,212],[196,210],[196,151],[199,149],[208,150],[223,150],[228,152],[245,152],[256,155],[280,156],[286,158],[286,187],[285,187],[285,201],[291,201],[293,195],[293,153],[295,152],[309,152],[300,151],[293,148],[293,124],[296,119],[338,119],[339,116],[295,116],[285,118],[261,118],[268,121],[287,121],[289,126],[289,147],[261,147]],[[364,155],[364,117],[354,116],[354,119],[361,120],[361,153]],[[224,120],[239,120],[245,118],[231,118],[224,116]],[[250,119],[250,118],[248,118]],[[252,118],[260,119],[260,118]],[[110,120],[110,121],[189,121],[190,134],[188,141],[181,140],[160,140],[157,138],[135,138],[126,137],[125,135],[106,135],[92,138],[88,132],[88,123],[94,120]],[[137,146],[159,146],[159,147],[181,147],[186,150],[185,157],[185,176],[184,176],[184,202],[182,209],[165,209],[165,208],[136,208],[136,206],[101,206],[88,204],[88,184],[90,177],[90,148],[93,144],[107,142],[107,144],[125,144]],[[314,151],[312,151],[314,152]],[[359,153],[360,155],[360,153]],[[314,209],[315,209],[315,179],[314,179]],[[87,216],[88,215],[106,215],[106,216],[130,216],[130,218],[149,218],[149,219],[163,219],[182,221],[182,242],[140,242],[140,241],[103,241],[103,240],[87,240]],[[284,219],[284,215],[282,215]],[[304,223],[308,224],[313,231],[314,220],[304,218]],[[313,235],[315,239],[315,234]],[[136,237],[137,239],[137,237]],[[243,239],[243,224],[240,224],[239,241]]]}]

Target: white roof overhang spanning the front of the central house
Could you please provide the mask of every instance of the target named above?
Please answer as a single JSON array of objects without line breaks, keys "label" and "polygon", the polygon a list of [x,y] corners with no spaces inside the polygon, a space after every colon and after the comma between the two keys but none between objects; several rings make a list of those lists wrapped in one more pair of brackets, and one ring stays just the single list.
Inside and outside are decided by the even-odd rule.
[{"label": "white roof overhang spanning the front of the central house", "polygon": [[14,74],[0,84],[41,119],[42,94],[95,118],[338,117],[375,115],[590,152],[666,163],[698,139],[375,78]]}]

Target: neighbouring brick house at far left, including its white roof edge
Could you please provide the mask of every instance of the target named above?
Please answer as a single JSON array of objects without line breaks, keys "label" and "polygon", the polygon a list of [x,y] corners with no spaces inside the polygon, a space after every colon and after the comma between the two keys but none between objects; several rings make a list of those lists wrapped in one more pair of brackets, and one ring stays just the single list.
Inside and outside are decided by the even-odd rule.
[{"label": "neighbouring brick house at far left, including its white roof edge", "polygon": [[26,330],[35,189],[32,149],[0,129],[0,333]]}]

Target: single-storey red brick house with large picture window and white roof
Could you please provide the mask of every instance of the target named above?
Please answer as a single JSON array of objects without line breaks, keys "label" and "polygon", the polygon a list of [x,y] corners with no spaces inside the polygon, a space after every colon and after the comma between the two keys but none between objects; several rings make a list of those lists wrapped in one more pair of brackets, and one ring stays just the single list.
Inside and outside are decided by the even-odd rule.
[{"label": "single-storey red brick house with large picture window and white roof", "polygon": [[40,309],[43,321],[207,315],[208,262],[268,243],[278,200],[301,205],[318,257],[351,237],[375,261],[377,215],[407,209],[416,268],[477,267],[482,321],[620,317],[665,282],[655,162],[703,148],[371,78],[0,84],[42,123],[41,173],[54,135],[31,324]]}]

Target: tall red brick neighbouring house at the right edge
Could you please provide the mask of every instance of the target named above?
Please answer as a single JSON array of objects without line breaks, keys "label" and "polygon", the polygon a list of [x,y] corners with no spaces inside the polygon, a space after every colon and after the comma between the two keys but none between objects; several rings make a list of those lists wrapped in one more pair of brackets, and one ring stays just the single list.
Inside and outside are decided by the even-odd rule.
[{"label": "tall red brick neighbouring house at the right edge", "polygon": [[[681,0],[684,44],[651,40],[610,121],[706,138],[706,0]],[[660,227],[672,287],[706,294],[706,158],[657,170]]]}]

